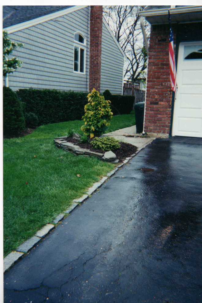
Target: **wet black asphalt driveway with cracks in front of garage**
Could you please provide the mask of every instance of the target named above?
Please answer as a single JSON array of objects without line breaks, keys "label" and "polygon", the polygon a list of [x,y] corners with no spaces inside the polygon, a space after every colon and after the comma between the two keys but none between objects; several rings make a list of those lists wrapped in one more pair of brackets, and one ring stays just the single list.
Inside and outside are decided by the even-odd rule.
[{"label": "wet black asphalt driveway with cracks in front of garage", "polygon": [[4,302],[200,303],[202,139],[156,139],[5,273]]}]

